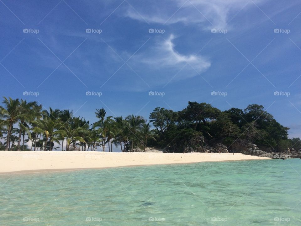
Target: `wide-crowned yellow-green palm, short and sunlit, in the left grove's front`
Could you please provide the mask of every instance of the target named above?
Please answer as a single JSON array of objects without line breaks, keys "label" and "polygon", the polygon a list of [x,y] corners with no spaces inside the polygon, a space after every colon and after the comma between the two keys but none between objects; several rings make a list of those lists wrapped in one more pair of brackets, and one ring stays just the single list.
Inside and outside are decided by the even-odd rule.
[{"label": "wide-crowned yellow-green palm, short and sunlit, in the left grove's front", "polygon": [[57,143],[60,143],[59,139],[57,139],[56,137],[64,136],[65,134],[64,130],[56,130],[57,128],[60,128],[61,122],[58,120],[53,120],[48,116],[45,116],[43,120],[36,120],[34,124],[35,127],[33,128],[33,131],[44,135],[45,151],[47,148],[48,140],[50,142],[49,150],[51,151],[52,150],[51,142],[55,141]]}]

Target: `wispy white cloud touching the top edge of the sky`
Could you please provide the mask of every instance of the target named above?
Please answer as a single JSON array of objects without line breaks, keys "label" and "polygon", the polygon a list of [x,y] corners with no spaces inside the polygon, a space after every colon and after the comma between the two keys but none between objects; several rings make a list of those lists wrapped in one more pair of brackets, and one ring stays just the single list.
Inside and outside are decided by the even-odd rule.
[{"label": "wispy white cloud touching the top edge of the sky", "polygon": [[[226,28],[229,20],[242,8],[256,7],[267,0],[176,0],[152,1],[144,7],[128,7],[126,16],[159,24],[199,24],[205,29]],[[164,9],[164,10],[163,10]],[[166,10],[167,9],[167,10]],[[137,11],[139,12],[137,12]],[[229,16],[233,10],[233,15]]]}]

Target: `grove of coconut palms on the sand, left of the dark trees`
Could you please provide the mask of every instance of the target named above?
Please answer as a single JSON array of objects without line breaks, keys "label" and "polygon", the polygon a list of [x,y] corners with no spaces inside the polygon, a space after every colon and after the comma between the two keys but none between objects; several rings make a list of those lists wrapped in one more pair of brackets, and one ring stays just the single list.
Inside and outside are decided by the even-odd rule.
[{"label": "grove of coconut palms on the sand, left of the dark trees", "polygon": [[[98,121],[90,124],[72,110],[42,110],[37,102],[4,97],[0,106],[0,150],[82,150],[98,147],[113,152],[112,144],[122,152],[143,150],[149,140],[156,140],[155,130],[141,116],[125,118],[106,116],[96,109]],[[21,145],[22,142],[22,145]],[[31,143],[29,149],[24,143]],[[55,145],[59,145],[55,147]]]}]

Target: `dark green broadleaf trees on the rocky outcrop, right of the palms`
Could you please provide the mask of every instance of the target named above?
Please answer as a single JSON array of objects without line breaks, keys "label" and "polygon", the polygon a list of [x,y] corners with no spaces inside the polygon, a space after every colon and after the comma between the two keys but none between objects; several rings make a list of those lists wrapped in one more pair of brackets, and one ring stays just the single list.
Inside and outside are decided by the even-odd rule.
[{"label": "dark green broadleaf trees on the rocky outcrop, right of the palms", "polygon": [[[165,126],[166,119],[162,114],[165,111],[170,116],[176,115],[172,126]],[[288,139],[289,128],[278,123],[262,105],[252,104],[244,110],[231,108],[221,111],[207,103],[188,102],[188,106],[178,112],[158,107],[150,113],[150,118],[158,134],[162,134],[164,128],[164,136],[160,136],[155,144],[179,152],[200,135],[208,143],[219,141],[228,148],[238,138],[272,150],[299,148],[298,141],[294,146],[293,140]]]}]

